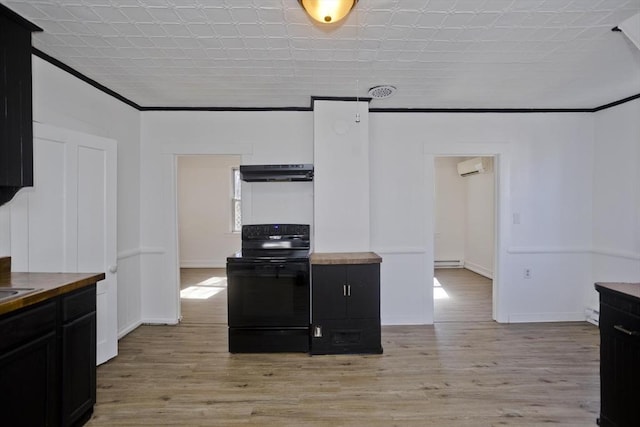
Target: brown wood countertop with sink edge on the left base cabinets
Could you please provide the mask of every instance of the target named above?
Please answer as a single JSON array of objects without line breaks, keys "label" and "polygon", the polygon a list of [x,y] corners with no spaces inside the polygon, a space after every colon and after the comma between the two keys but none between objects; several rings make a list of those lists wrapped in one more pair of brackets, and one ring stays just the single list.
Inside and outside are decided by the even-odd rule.
[{"label": "brown wood countertop with sink edge on the left base cabinets", "polygon": [[16,273],[11,272],[10,265],[6,258],[0,258],[0,290],[36,290],[0,300],[0,315],[89,286],[105,278],[104,273]]}]

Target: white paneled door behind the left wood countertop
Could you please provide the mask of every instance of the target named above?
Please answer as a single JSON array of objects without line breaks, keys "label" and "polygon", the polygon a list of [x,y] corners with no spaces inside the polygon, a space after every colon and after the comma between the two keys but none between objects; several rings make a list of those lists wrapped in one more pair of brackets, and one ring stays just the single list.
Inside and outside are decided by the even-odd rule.
[{"label": "white paneled door behind the left wood countertop", "polygon": [[97,363],[118,353],[116,141],[34,124],[34,187],[11,204],[16,271],[104,272]]}]

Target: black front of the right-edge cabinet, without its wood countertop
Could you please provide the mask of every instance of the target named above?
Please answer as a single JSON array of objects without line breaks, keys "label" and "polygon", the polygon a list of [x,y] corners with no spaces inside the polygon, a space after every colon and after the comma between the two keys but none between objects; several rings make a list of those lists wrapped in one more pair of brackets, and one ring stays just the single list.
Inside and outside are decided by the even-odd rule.
[{"label": "black front of the right-edge cabinet, without its wood countertop", "polygon": [[601,425],[640,425],[640,318],[600,307]]}]

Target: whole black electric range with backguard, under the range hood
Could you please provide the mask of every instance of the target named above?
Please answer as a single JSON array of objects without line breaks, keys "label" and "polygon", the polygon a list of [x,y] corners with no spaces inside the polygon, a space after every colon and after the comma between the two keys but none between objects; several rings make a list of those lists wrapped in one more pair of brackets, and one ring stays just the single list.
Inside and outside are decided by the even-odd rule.
[{"label": "whole black electric range with backguard, under the range hood", "polygon": [[229,351],[309,351],[306,224],[242,227],[242,250],[227,258]]}]

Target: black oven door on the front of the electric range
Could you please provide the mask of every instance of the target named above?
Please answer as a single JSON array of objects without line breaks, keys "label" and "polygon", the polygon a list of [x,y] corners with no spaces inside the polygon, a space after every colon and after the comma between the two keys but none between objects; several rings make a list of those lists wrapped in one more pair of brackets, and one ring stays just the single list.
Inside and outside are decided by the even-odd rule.
[{"label": "black oven door on the front of the electric range", "polygon": [[309,327],[307,262],[227,264],[230,328]]}]

